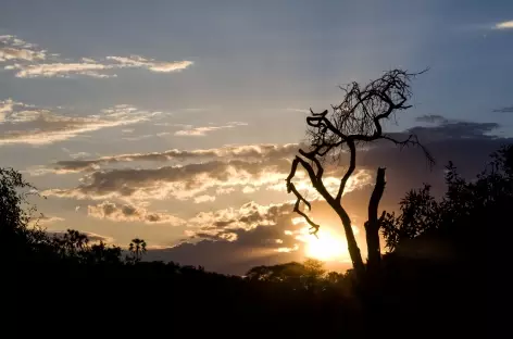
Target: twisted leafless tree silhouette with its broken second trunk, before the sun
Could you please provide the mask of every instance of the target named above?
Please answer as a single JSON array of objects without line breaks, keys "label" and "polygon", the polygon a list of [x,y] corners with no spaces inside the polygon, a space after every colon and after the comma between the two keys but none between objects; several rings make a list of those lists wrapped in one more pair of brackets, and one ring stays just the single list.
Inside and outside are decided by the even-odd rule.
[{"label": "twisted leafless tree silhouette with its broken second trunk, before the sun", "polygon": [[[359,278],[365,274],[365,265],[351,228],[351,218],[342,204],[346,186],[356,168],[356,148],[377,140],[387,140],[401,148],[418,146],[428,162],[434,163],[434,159],[418,142],[416,136],[410,135],[403,140],[398,140],[391,135],[385,134],[381,125],[383,121],[395,117],[397,112],[411,108],[406,103],[412,96],[410,83],[415,76],[426,71],[408,73],[403,70],[392,70],[363,87],[358,83],[349,84],[346,87],[340,87],[345,92],[345,98],[340,104],[331,105],[331,113],[328,113],[327,110],[322,113],[314,113],[310,110],[311,115],[306,117],[309,149],[299,150],[287,177],[287,191],[297,198],[293,211],[305,218],[313,234],[317,233],[320,225],[315,224],[301,210],[301,203],[306,205],[309,210],[311,210],[311,204],[292,183],[299,165],[306,171],[312,186],[338,214],[346,233],[352,265]],[[342,151],[349,151],[349,165],[340,179],[338,191],[333,196],[323,183],[324,164],[330,159],[330,155],[340,155]],[[380,260],[380,218],[377,215],[384,189],[385,168],[378,168],[376,185],[368,203],[368,221],[365,223],[368,268],[376,267]]]}]

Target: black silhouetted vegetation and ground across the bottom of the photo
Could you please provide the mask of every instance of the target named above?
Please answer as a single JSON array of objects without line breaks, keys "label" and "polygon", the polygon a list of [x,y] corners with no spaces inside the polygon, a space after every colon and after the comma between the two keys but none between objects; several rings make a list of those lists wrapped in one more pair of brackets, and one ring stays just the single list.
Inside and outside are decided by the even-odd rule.
[{"label": "black silhouetted vegetation and ground across the bottom of the photo", "polygon": [[[33,193],[22,176],[0,170],[0,239],[3,310],[48,322],[100,322],[102,326],[230,336],[300,337],[372,332],[422,337],[464,335],[486,324],[485,273],[490,233],[513,202],[513,147],[493,154],[474,180],[447,168],[447,192],[410,191],[400,214],[387,215],[383,256],[373,284],[352,271],[325,273],[306,261],[250,269],[246,277],[204,272],[176,263],[143,262],[145,243],[129,251],[89,243],[77,231],[49,236],[30,227]],[[10,315],[9,315],[10,314]],[[65,321],[67,319],[67,321]],[[139,326],[135,325],[134,326]]]}]

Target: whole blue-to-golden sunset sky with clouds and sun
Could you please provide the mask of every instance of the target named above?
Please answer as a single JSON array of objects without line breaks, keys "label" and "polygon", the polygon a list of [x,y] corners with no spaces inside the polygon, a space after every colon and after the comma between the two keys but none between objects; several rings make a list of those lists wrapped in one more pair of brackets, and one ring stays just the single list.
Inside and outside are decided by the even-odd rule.
[{"label": "whole blue-to-golden sunset sky with clouds and sun", "polygon": [[386,127],[416,133],[437,160],[429,170],[415,150],[361,151],[343,201],[362,250],[378,166],[391,211],[422,183],[441,192],[449,160],[477,174],[513,135],[511,1],[0,7],[0,166],[47,197],[36,203],[48,231],[143,238],[150,260],[228,274],[308,256],[347,268],[336,216],[300,180],[322,224],[309,235],[285,178],[309,110],[340,102],[350,81],[429,67]]}]

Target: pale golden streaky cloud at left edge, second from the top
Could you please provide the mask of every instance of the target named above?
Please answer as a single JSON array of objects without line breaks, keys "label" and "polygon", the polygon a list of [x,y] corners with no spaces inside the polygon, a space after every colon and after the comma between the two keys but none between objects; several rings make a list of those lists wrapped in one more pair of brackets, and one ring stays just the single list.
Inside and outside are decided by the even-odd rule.
[{"label": "pale golden streaky cloud at left edge, second from the top", "polygon": [[97,115],[71,116],[62,109],[38,108],[8,99],[0,101],[0,146],[53,143],[102,128],[136,124],[155,114],[122,104]]}]

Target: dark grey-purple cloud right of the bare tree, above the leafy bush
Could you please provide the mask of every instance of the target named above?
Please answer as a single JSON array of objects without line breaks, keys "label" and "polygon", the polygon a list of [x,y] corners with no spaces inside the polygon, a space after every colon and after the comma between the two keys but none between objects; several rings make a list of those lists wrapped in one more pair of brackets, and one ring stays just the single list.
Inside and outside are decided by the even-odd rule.
[{"label": "dark grey-purple cloud right of the bare tree, above the leafy bush", "polygon": [[[396,209],[397,202],[403,194],[418,188],[423,183],[433,186],[434,192],[440,194],[445,190],[443,170],[449,161],[459,168],[461,175],[473,178],[489,162],[489,155],[502,145],[513,142],[510,138],[500,138],[492,133],[499,128],[496,123],[454,122],[436,116],[435,126],[415,126],[408,133],[413,133],[435,159],[430,167],[418,148],[397,148],[383,141],[358,158],[359,166],[376,171],[377,166],[387,167],[387,189],[383,205],[388,210]],[[402,140],[406,133],[393,134]],[[351,193],[352,199],[358,194],[368,194],[372,187]],[[363,199],[363,197],[362,197]],[[358,199],[356,199],[358,200]]]}]

